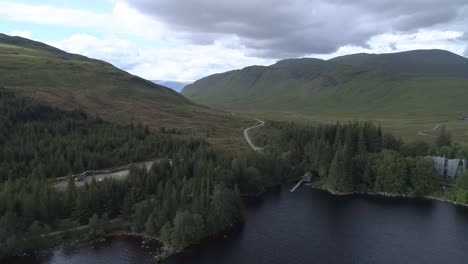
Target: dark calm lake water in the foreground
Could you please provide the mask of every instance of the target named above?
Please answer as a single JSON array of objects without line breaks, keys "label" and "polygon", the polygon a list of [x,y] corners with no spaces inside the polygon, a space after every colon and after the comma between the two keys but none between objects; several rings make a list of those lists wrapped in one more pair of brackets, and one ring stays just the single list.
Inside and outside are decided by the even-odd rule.
[{"label": "dark calm lake water in the foreground", "polygon": [[[163,263],[468,263],[468,208],[289,188],[250,202],[239,230]],[[58,248],[35,262],[152,263],[150,251],[115,239]]]}]

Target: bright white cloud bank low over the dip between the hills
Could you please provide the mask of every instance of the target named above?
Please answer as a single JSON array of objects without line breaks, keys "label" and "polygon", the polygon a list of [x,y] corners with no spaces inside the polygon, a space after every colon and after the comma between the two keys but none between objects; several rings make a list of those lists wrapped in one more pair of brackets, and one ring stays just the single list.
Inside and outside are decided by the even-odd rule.
[{"label": "bright white cloud bank low over the dip between the hills", "polygon": [[235,45],[236,38],[212,45],[174,45],[141,48],[137,43],[109,36],[73,35],[48,44],[68,52],[108,61],[115,66],[149,80],[194,81],[203,76],[243,68],[252,64],[267,65],[272,60],[248,57]]}]

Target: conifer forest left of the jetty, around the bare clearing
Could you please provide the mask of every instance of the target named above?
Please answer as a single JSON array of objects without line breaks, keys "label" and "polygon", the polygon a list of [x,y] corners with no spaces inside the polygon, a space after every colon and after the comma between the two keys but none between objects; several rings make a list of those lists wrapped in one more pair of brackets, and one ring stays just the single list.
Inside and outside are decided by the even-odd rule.
[{"label": "conifer forest left of the jetty, around the bare clearing", "polygon": [[[181,249],[241,222],[241,195],[292,175],[274,156],[234,158],[204,140],[111,124],[6,89],[0,114],[0,256],[43,248],[56,242],[44,234],[82,224],[89,228],[81,239],[99,238],[116,217],[126,230]],[[50,178],[155,158],[125,180],[77,188],[70,178],[65,192],[51,187]]]}]

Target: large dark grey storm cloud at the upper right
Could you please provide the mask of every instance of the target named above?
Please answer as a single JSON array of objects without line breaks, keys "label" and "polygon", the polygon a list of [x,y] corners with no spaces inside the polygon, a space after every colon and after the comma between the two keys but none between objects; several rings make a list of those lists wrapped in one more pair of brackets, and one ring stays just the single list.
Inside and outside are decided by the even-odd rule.
[{"label": "large dark grey storm cloud at the upper right", "polygon": [[[239,37],[253,55],[278,58],[365,46],[386,32],[460,24],[466,0],[127,0],[183,37],[211,43]],[[463,22],[462,22],[463,24]],[[467,25],[468,26],[468,25]]]}]

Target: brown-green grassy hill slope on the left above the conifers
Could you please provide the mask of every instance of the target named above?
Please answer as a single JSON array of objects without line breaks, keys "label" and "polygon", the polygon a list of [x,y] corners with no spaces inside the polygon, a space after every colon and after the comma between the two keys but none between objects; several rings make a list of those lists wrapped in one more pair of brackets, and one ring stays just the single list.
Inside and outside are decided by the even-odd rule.
[{"label": "brown-green grassy hill slope on the left above the conifers", "polygon": [[205,136],[207,129],[216,130],[212,141],[230,142],[235,148],[242,145],[243,120],[193,103],[107,62],[21,37],[0,34],[0,87],[118,123],[138,121],[152,128],[177,128],[200,136]]}]

